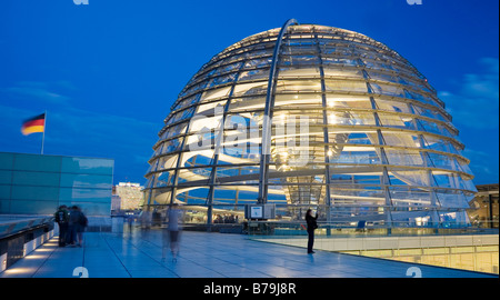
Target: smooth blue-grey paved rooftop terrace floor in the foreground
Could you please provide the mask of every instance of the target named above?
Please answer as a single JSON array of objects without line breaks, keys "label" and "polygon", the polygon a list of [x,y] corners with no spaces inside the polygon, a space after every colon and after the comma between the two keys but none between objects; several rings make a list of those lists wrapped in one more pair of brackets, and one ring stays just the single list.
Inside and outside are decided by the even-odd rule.
[{"label": "smooth blue-grey paved rooftop terrace floor in the foreground", "polygon": [[71,278],[82,270],[89,278],[406,278],[411,267],[423,278],[498,278],[327,251],[307,254],[301,248],[228,233],[184,231],[178,260],[170,249],[168,253],[163,262],[160,230],[89,232],[82,248],[59,248],[54,237],[0,278]]}]

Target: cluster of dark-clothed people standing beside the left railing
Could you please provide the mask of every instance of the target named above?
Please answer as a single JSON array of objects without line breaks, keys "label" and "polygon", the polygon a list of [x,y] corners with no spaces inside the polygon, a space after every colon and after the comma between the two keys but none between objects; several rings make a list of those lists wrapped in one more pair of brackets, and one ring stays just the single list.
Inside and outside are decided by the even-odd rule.
[{"label": "cluster of dark-clothed people standing beside the left railing", "polygon": [[59,247],[82,247],[83,231],[88,220],[81,209],[77,206],[70,208],[60,206],[54,213],[54,219],[59,224]]}]

